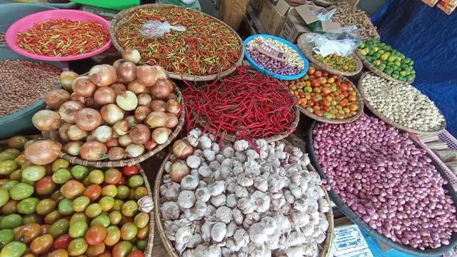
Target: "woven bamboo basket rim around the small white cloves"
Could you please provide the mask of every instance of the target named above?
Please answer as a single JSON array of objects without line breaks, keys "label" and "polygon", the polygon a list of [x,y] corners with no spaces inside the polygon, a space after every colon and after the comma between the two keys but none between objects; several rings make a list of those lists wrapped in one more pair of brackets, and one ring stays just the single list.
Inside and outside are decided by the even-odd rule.
[{"label": "woven bamboo basket rim around the small white cloves", "polygon": [[[421,135],[436,135],[438,133],[440,133],[441,131],[443,131],[444,129],[446,129],[446,120],[444,120],[443,124],[441,124],[441,126],[434,130],[434,131],[421,131],[421,130],[418,130],[418,129],[412,129],[412,128],[408,128],[407,126],[403,126],[401,124],[398,124],[396,123],[395,121],[392,121],[391,119],[388,119],[384,114],[381,113],[381,111],[378,111],[378,109],[376,109],[375,106],[372,106],[370,104],[370,102],[368,101],[368,99],[366,99],[366,96],[365,96],[365,90],[363,89],[363,85],[362,85],[362,80],[363,78],[365,78],[365,76],[367,76],[368,74],[373,74],[369,71],[367,72],[364,72],[362,74],[362,76],[360,77],[360,79],[358,80],[358,91],[360,91],[360,94],[361,94],[361,97],[363,99],[363,102],[365,103],[365,106],[373,113],[375,114],[379,119],[383,120],[386,122],[386,124],[389,124],[391,126],[394,126],[396,127],[397,129],[401,129],[403,131],[408,131],[408,132],[412,132],[412,133],[416,133],[416,134],[421,134]],[[411,85],[405,85],[405,86],[411,86]],[[439,109],[438,109],[439,110]],[[440,114],[443,115],[440,111]]]}]

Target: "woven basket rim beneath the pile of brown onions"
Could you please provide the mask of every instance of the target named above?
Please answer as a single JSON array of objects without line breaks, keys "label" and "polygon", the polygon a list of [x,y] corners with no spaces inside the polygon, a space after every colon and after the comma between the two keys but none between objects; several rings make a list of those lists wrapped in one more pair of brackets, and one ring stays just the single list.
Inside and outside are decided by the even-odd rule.
[{"label": "woven basket rim beneath the pile of brown onions", "polygon": [[[178,96],[178,101],[180,104],[184,104],[183,97],[181,94],[181,91],[179,91],[178,86],[176,84],[174,85],[175,93]],[[123,166],[132,166],[136,163],[141,163],[141,161],[146,160],[147,158],[154,156],[154,154],[159,153],[163,148],[169,145],[171,141],[174,141],[174,138],[178,136],[178,133],[181,131],[182,127],[184,126],[184,119],[185,119],[185,111],[184,108],[181,111],[181,114],[179,115],[179,122],[174,131],[170,134],[169,139],[165,142],[162,143],[161,145],[156,146],[154,149],[151,151],[148,151],[141,156],[135,157],[135,158],[129,158],[129,159],[124,159],[120,161],[87,161],[84,159],[81,159],[77,156],[71,156],[67,153],[61,153],[60,158],[63,158],[66,161],[69,161],[70,163],[74,164],[79,164],[83,166],[94,166],[97,168],[103,168],[103,167],[123,167]],[[54,141],[59,141],[59,132],[57,131],[52,131],[52,132],[42,132],[41,133],[44,138],[46,139],[52,139]]]}]

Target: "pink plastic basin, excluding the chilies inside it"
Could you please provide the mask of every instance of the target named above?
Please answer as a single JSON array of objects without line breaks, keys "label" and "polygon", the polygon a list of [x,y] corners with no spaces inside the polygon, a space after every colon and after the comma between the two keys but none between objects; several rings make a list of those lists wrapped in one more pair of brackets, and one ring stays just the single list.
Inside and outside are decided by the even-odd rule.
[{"label": "pink plastic basin, excluding the chilies inside it", "polygon": [[32,59],[38,59],[42,61],[73,61],[73,60],[79,60],[79,59],[85,59],[89,58],[91,56],[94,56],[96,54],[100,54],[106,49],[109,49],[109,46],[111,46],[111,39],[109,39],[104,46],[101,46],[101,48],[96,49],[94,51],[91,51],[89,53],[85,54],[76,54],[74,56],[43,56],[39,54],[33,54],[30,53],[29,51],[26,51],[24,49],[21,49],[17,45],[17,33],[18,32],[24,32],[28,29],[31,29],[31,27],[34,26],[34,24],[39,23],[41,21],[48,21],[51,19],[70,19],[71,21],[96,21],[99,24],[101,24],[106,31],[109,31],[109,21],[106,21],[106,19],[101,18],[101,16],[91,14],[87,11],[78,11],[78,10],[51,10],[51,11],[41,11],[36,14],[30,14],[28,16],[25,16],[22,19],[19,19],[16,21],[14,24],[9,26],[9,29],[6,31],[6,44],[9,46],[9,48],[13,51],[15,51],[18,54],[21,54],[23,56],[27,56]]}]

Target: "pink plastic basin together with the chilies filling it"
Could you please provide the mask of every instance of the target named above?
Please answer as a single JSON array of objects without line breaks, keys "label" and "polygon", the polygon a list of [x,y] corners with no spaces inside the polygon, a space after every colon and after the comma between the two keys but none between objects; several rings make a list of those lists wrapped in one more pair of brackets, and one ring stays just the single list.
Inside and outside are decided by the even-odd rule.
[{"label": "pink plastic basin together with the chilies filling it", "polygon": [[9,26],[6,44],[18,54],[44,61],[71,61],[111,46],[109,22],[86,11],[51,10],[30,14]]}]

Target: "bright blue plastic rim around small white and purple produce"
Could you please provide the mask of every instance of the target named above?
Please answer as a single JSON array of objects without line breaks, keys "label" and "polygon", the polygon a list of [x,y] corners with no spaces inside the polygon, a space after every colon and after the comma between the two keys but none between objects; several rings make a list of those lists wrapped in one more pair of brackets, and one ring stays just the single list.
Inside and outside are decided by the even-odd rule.
[{"label": "bright blue plastic rim around small white and purple produce", "polygon": [[[249,41],[255,39],[258,36],[263,36],[265,38],[274,39],[274,40],[280,41],[283,44],[290,46],[293,50],[295,50],[297,52],[298,56],[300,56],[301,59],[303,60],[303,63],[304,63],[303,71],[301,71],[299,74],[283,75],[283,74],[276,74],[273,71],[270,71],[270,70],[265,69],[262,66],[258,65],[255,61],[253,61],[253,59],[251,59],[251,56],[249,55],[249,52],[246,49],[246,46],[248,45]],[[306,59],[306,57],[303,55],[303,53],[301,53],[300,49],[298,49],[298,47],[296,45],[292,44],[291,42],[287,41],[286,39],[281,39],[278,36],[273,36],[273,35],[268,35],[268,34],[252,35],[243,41],[243,47],[244,47],[244,56],[248,60],[249,64],[251,64],[251,66],[256,68],[256,70],[260,71],[261,73],[266,74],[268,76],[272,76],[275,79],[281,79],[281,80],[300,79],[301,77],[305,76],[306,72],[308,71],[308,65],[309,65],[308,59]]]}]

